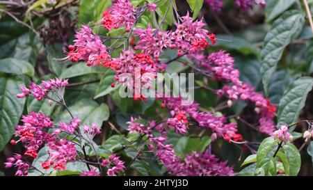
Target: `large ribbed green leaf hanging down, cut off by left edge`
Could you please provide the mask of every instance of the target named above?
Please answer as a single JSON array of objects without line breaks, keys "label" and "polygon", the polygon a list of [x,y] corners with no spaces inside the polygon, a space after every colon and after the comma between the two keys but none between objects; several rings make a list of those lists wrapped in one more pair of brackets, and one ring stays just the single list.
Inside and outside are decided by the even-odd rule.
[{"label": "large ribbed green leaf hanging down, cut off by left edge", "polygon": [[12,137],[24,109],[25,98],[16,97],[20,86],[24,86],[20,79],[0,74],[0,150]]}]

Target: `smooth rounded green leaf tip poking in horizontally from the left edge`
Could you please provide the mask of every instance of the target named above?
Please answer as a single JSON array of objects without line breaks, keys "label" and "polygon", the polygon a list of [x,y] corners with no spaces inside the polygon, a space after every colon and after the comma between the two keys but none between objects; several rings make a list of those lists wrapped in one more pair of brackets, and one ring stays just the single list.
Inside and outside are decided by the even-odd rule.
[{"label": "smooth rounded green leaf tip poking in horizontally from the left edge", "polygon": [[0,72],[10,74],[26,74],[33,77],[33,65],[27,61],[18,60],[17,58],[0,59]]}]

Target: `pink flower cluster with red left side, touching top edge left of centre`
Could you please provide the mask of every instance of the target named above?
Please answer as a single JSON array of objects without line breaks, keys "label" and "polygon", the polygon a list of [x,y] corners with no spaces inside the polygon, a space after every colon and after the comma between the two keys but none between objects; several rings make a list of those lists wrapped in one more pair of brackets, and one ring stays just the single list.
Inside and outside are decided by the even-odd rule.
[{"label": "pink flower cluster with red left side, touching top edge left of centre", "polygon": [[[152,5],[150,5],[150,9],[155,10]],[[129,32],[136,21],[135,13],[136,10],[132,6],[131,1],[115,0],[113,1],[111,8],[104,11],[104,14],[102,15],[102,26],[109,31],[124,26],[126,31]]]}]

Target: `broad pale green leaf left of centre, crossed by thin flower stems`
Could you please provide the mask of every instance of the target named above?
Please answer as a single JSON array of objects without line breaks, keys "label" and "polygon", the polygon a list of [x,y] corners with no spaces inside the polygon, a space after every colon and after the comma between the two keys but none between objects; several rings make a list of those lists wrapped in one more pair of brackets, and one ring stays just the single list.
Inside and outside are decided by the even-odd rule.
[{"label": "broad pale green leaf left of centre, crossed by thin flower stems", "polygon": [[[82,99],[69,107],[74,117],[80,118],[81,123],[85,125],[97,124],[97,127],[102,126],[104,120],[109,118],[109,108],[106,104],[98,104],[93,100]],[[66,122],[70,120],[70,113],[64,110],[63,113],[56,118],[56,121]]]}]

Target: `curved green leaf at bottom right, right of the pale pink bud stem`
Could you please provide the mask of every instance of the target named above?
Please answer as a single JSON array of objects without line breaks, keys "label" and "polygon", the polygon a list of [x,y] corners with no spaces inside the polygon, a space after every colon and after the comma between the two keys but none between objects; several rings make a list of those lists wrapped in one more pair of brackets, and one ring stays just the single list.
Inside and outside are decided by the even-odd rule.
[{"label": "curved green leaf at bottom right, right of the pale pink bud stem", "polygon": [[291,143],[287,143],[286,145],[283,145],[284,152],[287,155],[287,159],[289,160],[289,166],[290,166],[290,175],[296,176],[298,175],[301,167],[301,157],[298,149],[295,145]]}]

